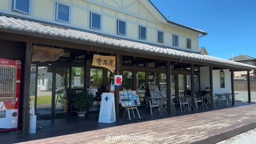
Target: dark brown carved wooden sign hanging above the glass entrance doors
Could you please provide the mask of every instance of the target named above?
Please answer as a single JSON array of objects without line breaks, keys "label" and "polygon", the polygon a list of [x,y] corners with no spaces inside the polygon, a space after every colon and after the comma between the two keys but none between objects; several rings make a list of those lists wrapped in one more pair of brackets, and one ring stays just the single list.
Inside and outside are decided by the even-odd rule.
[{"label": "dark brown carved wooden sign hanging above the glass entrance doors", "polygon": [[32,61],[56,61],[64,54],[62,49],[54,49],[43,46],[33,46]]}]

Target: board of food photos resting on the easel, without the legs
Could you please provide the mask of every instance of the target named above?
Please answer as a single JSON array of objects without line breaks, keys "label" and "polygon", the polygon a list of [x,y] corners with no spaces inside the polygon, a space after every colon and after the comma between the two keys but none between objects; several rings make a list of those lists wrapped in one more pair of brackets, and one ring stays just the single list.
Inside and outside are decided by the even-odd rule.
[{"label": "board of food photos resting on the easel, without the legs", "polygon": [[136,91],[120,91],[119,97],[123,107],[140,106],[140,99]]}]

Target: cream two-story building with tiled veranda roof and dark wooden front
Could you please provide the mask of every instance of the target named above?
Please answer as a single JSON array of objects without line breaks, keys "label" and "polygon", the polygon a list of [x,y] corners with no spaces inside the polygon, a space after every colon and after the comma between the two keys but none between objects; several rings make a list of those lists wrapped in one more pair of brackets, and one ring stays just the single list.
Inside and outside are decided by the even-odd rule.
[{"label": "cream two-story building with tiled veranda roof and dark wooden front", "polygon": [[[148,85],[165,84],[171,113],[171,95],[193,96],[206,86],[210,95],[234,93],[233,72],[256,70],[201,54],[198,40],[207,32],[166,19],[150,0],[0,3],[0,57],[23,63],[16,122],[23,134],[28,133],[29,99],[38,117],[71,115],[73,105],[67,99],[87,88],[97,88],[98,95],[107,92],[113,75],[123,75],[122,86],[115,88],[118,121],[119,90],[136,90],[143,100],[150,97]],[[94,54],[115,56],[115,72],[92,66]]]}]

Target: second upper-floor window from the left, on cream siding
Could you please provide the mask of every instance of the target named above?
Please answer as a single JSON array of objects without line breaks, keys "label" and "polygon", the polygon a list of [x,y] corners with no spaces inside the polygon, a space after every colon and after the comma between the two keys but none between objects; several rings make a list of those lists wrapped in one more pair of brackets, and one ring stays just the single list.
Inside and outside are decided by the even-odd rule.
[{"label": "second upper-floor window from the left, on cream siding", "polygon": [[56,3],[56,20],[70,23],[70,5]]}]

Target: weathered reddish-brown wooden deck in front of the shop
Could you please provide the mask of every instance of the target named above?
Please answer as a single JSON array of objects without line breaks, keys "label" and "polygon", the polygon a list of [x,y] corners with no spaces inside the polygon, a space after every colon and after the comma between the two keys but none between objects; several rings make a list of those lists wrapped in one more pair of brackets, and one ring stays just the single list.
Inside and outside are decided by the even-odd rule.
[{"label": "weathered reddish-brown wooden deck in front of the shop", "polygon": [[[149,109],[148,109],[149,110]],[[155,109],[156,110],[156,109]],[[154,111],[155,111],[154,110]],[[138,116],[129,122],[128,117],[120,118],[112,124],[98,123],[96,114],[86,117],[68,117],[54,120],[38,119],[36,134],[20,136],[19,133],[0,133],[1,143],[216,143],[232,136],[256,128],[256,105],[245,102],[236,103],[229,108],[201,110],[184,115],[183,113],[161,117],[144,114],[139,109]],[[131,113],[132,114],[132,113]],[[122,114],[120,114],[122,116]],[[133,116],[132,116],[133,117]],[[111,140],[106,136],[112,134],[153,136],[151,141]]]}]

